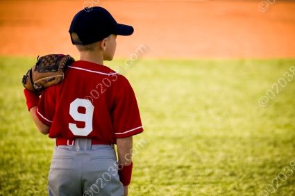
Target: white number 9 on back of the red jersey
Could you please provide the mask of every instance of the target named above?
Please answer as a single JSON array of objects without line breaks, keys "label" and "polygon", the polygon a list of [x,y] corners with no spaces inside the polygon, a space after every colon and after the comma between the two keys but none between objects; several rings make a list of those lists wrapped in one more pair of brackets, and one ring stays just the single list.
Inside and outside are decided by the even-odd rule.
[{"label": "white number 9 on back of the red jersey", "polygon": [[[78,108],[85,108],[85,113],[79,113]],[[77,124],[69,123],[69,130],[74,136],[88,136],[92,131],[92,119],[93,119],[94,106],[88,99],[75,99],[69,105],[69,115],[76,121],[85,122],[84,128],[78,128]]]}]

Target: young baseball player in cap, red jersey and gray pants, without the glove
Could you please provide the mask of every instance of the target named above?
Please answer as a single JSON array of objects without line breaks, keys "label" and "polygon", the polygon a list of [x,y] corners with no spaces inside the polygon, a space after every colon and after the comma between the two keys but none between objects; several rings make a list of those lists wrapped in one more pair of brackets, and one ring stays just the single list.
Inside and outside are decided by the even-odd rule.
[{"label": "young baseball player in cap, red jersey and gray pants, without the glove", "polygon": [[80,60],[67,67],[64,81],[41,97],[24,90],[37,129],[56,138],[49,195],[127,195],[142,122],[130,83],[103,60],[112,60],[117,35],[131,35],[133,27],[94,7],[74,16],[69,33]]}]

